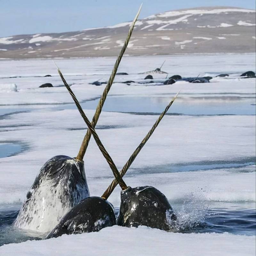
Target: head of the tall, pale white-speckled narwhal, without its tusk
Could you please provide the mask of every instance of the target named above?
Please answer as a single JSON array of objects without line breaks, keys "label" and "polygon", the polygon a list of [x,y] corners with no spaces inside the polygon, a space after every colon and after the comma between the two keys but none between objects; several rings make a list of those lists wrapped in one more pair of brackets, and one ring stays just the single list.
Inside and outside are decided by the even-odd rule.
[{"label": "head of the tall, pale white-speckled narwhal, without its tusk", "polygon": [[73,206],[88,196],[84,162],[54,156],[38,173],[14,226],[50,232]]}]

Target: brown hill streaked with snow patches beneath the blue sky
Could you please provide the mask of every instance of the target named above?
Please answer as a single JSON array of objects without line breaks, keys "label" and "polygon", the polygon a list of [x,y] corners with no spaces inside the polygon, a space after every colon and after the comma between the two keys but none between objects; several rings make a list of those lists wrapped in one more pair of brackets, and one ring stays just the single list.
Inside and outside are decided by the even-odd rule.
[{"label": "brown hill streaked with snow patches beneath the blue sky", "polygon": [[[151,15],[136,22],[126,54],[255,52],[255,17],[255,10],[235,7],[201,7]],[[130,24],[3,37],[0,58],[116,56]]]}]

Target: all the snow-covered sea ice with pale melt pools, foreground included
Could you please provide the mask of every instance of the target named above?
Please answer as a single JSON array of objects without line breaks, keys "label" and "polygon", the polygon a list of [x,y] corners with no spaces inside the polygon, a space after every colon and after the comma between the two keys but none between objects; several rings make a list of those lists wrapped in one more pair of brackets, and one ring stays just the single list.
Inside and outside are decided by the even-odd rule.
[{"label": "all the snow-covered sea ice with pale melt pools, foreground included", "polygon": [[[213,79],[206,84],[181,81],[164,86],[120,83],[144,79],[145,75],[138,73],[154,70],[164,60],[161,70],[170,72],[168,77],[201,73],[200,76]],[[115,58],[55,61],[92,119],[105,85],[89,83],[107,81]],[[243,72],[255,69],[255,54],[124,57],[118,72],[129,75],[116,76],[119,83],[113,84],[96,126],[118,169],[154,124],[157,113],[181,89],[168,115],[127,172],[125,182],[132,187],[158,188],[178,216],[186,220],[200,217],[197,207],[255,209],[255,78],[239,78]],[[2,60],[0,70],[0,88],[9,88],[0,90],[0,142],[21,147],[18,154],[0,158],[0,206],[4,209],[21,205],[37,172],[49,158],[76,156],[86,126],[52,61]],[[223,73],[230,76],[215,77]],[[163,80],[166,74],[153,76]],[[54,87],[38,88],[44,83],[52,83]],[[17,91],[12,89],[13,84]],[[101,196],[113,174],[93,139],[84,161],[90,193]],[[120,188],[114,190],[109,201],[114,207],[119,206]],[[194,210],[190,208],[181,214],[185,201],[190,201]],[[254,249],[255,236],[182,234],[114,226],[96,233],[8,244],[0,247],[0,254],[159,255],[161,252],[234,256],[253,255]]]}]

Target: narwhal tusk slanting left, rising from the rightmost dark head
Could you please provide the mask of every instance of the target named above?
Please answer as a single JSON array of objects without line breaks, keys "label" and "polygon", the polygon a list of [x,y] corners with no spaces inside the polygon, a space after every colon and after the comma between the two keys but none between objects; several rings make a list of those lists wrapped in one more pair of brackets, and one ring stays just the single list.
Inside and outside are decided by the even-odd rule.
[{"label": "narwhal tusk slanting left, rising from the rightmost dark head", "polygon": [[[55,64],[55,63],[54,63]],[[56,65],[56,64],[55,64]],[[57,65],[56,65],[57,67]],[[100,141],[100,138],[99,136],[97,135],[97,133],[95,132],[95,129],[94,127],[92,126],[92,124],[90,123],[89,119],[87,118],[87,116],[84,114],[84,111],[82,109],[82,107],[80,106],[78,100],[76,99],[76,96],[75,94],[73,93],[73,91],[70,89],[68,83],[66,82],[65,78],[63,77],[62,73],[60,72],[60,69],[57,67],[58,69],[58,72],[59,72],[59,75],[64,83],[64,85],[66,86],[66,88],[68,89],[68,92],[70,93],[71,97],[73,98],[73,100],[75,101],[75,104],[76,104],[76,107],[78,108],[81,116],[83,117],[84,119],[84,122],[87,124],[88,128],[90,129],[91,133],[92,133],[92,136],[94,138],[94,140],[96,141],[98,147],[100,148],[100,151],[101,153],[103,154],[103,156],[106,158],[116,180],[118,181],[118,184],[120,185],[120,187],[122,188],[122,190],[126,189],[127,186],[124,182],[124,180],[122,179],[122,177],[120,176],[117,168],[116,168],[116,165],[114,164],[112,158],[109,156],[107,150],[104,148],[104,146],[102,145],[101,141]]]}]

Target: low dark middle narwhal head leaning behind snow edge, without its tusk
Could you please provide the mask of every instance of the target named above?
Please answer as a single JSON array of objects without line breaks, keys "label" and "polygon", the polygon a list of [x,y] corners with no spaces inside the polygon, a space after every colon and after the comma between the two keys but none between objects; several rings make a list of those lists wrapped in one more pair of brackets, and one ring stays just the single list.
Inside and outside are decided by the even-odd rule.
[{"label": "low dark middle narwhal head leaning behind snow edge, without its tusk", "polygon": [[46,236],[46,239],[63,234],[95,232],[113,225],[116,225],[113,206],[101,197],[91,196],[74,206]]}]

